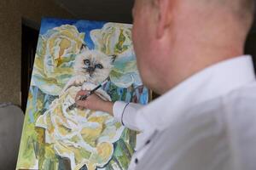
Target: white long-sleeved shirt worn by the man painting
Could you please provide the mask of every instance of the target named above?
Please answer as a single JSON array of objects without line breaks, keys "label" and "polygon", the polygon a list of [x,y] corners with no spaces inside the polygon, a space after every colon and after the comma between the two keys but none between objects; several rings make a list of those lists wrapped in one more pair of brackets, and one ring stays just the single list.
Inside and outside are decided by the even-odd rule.
[{"label": "white long-sleeved shirt worn by the man painting", "polygon": [[115,102],[114,116],[143,132],[131,170],[256,169],[256,82],[250,56],[212,65],[144,107],[125,105]]}]

